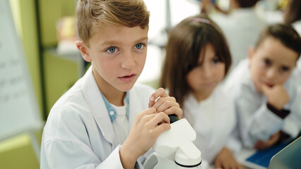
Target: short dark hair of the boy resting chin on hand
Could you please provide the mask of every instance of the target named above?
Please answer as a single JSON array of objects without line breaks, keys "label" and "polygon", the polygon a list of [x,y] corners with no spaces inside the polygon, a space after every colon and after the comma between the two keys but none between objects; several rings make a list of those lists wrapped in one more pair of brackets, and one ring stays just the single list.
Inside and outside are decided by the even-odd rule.
[{"label": "short dark hair of the boy resting chin on hand", "polygon": [[273,37],[278,39],[283,45],[287,46],[297,53],[297,57],[300,57],[301,53],[301,39],[300,35],[294,30],[292,25],[277,23],[268,25],[259,36],[259,40],[256,43],[255,49],[257,49],[264,39],[267,37]]}]

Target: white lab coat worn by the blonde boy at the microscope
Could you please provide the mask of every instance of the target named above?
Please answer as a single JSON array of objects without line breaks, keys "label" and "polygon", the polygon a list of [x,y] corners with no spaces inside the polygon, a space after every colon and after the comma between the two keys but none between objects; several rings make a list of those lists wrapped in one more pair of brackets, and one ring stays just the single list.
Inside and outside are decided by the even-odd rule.
[{"label": "white lab coat worn by the blonde boy at the microscope", "polygon": [[[142,84],[129,91],[129,128],[136,114],[148,108],[153,92],[155,89]],[[42,134],[40,168],[122,168],[120,147],[89,68],[49,113]],[[143,168],[146,157],[138,159]]]}]

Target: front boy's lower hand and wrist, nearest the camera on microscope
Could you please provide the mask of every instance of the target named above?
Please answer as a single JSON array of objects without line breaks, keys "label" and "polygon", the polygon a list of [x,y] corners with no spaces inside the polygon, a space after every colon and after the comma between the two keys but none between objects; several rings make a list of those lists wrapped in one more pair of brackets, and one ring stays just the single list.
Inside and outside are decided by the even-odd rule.
[{"label": "front boy's lower hand and wrist, nearest the camera on microscope", "polygon": [[[158,125],[159,123],[161,124]],[[138,113],[129,136],[119,151],[123,167],[134,168],[137,158],[151,149],[158,136],[166,130],[170,130],[170,118],[166,113],[157,113],[155,108]]]}]

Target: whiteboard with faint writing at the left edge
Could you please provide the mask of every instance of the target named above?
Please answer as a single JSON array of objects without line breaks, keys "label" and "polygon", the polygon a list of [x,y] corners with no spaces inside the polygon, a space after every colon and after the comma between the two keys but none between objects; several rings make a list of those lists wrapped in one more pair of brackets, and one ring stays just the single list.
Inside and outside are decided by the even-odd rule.
[{"label": "whiteboard with faint writing at the left edge", "polygon": [[42,128],[8,0],[0,0],[0,140]]}]

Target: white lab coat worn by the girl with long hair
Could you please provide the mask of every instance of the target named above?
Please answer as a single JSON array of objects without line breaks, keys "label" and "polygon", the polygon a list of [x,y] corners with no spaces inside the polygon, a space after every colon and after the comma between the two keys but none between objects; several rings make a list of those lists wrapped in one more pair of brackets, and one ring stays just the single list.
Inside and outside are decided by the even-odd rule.
[{"label": "white lab coat worn by the girl with long hair", "polygon": [[237,119],[234,101],[226,94],[221,84],[214,89],[208,99],[213,102],[207,104],[213,106],[211,107],[213,112],[210,112],[213,113],[212,122],[208,120],[206,112],[201,109],[199,102],[192,94],[189,94],[184,100],[183,118],[187,118],[196,131],[194,144],[201,151],[202,161],[213,163],[223,147],[227,146],[234,154],[237,154],[241,144],[237,135],[235,136]]}]

